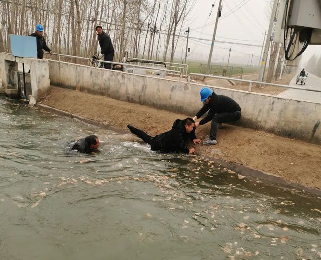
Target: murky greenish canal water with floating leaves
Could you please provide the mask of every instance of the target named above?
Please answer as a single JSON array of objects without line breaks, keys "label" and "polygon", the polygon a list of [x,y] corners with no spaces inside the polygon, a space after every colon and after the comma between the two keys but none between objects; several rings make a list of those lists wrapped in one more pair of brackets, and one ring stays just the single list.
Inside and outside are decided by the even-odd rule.
[{"label": "murky greenish canal water with floating leaves", "polygon": [[[89,134],[100,153],[69,151]],[[0,97],[1,260],[320,259],[321,198]]]}]

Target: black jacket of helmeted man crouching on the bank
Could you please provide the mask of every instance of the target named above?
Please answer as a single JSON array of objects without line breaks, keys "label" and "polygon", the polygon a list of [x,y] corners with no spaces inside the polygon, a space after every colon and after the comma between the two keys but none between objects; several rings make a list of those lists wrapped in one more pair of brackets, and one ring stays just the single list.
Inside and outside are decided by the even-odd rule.
[{"label": "black jacket of helmeted man crouching on the bank", "polygon": [[200,125],[206,124],[210,120],[213,119],[215,114],[220,113],[234,113],[235,111],[241,111],[241,108],[238,103],[236,103],[233,99],[224,96],[224,95],[216,95],[213,93],[211,99],[207,104],[201,108],[200,111],[195,115],[197,118],[200,118],[203,114],[205,114],[209,110],[207,116],[200,121]]}]

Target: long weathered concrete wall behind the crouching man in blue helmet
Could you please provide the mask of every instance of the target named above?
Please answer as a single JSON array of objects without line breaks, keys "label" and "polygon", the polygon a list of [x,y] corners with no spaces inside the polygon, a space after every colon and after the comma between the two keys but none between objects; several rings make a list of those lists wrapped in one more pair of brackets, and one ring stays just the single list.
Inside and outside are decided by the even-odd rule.
[{"label": "long weathered concrete wall behind the crouching man in blue helmet", "polygon": [[[201,108],[203,86],[138,76],[119,71],[49,61],[52,85],[79,89],[114,99],[194,116]],[[208,86],[211,87],[211,86]],[[321,104],[213,87],[240,104],[240,124],[276,134],[321,143]]]}]

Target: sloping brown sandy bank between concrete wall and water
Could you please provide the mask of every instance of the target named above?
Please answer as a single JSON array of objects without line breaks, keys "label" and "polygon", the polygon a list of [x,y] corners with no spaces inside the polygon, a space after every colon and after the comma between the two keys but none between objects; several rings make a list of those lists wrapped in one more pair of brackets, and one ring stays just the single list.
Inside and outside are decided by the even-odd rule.
[{"label": "sloping brown sandy bank between concrete wall and water", "polygon": [[[123,130],[127,129],[127,124],[132,124],[151,135],[169,130],[177,118],[193,116],[58,87],[52,87],[40,103]],[[209,128],[210,124],[199,127],[198,138],[206,138]],[[223,124],[218,132],[218,144],[197,145],[196,151],[201,156],[238,163],[321,189],[320,145]]]}]

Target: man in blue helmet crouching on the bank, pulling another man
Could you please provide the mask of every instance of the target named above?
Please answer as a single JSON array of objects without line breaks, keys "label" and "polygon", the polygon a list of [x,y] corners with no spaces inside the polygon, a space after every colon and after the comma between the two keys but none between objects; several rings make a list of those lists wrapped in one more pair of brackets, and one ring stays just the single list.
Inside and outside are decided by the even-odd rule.
[{"label": "man in blue helmet crouching on the bank, pulling another man", "polygon": [[195,122],[195,126],[206,124],[212,121],[209,139],[204,141],[204,145],[216,145],[216,133],[221,123],[235,122],[241,117],[241,108],[230,97],[224,95],[216,95],[210,88],[204,87],[201,89],[201,102],[204,106],[194,116],[193,120],[200,118],[208,110],[208,114],[200,122]]}]

